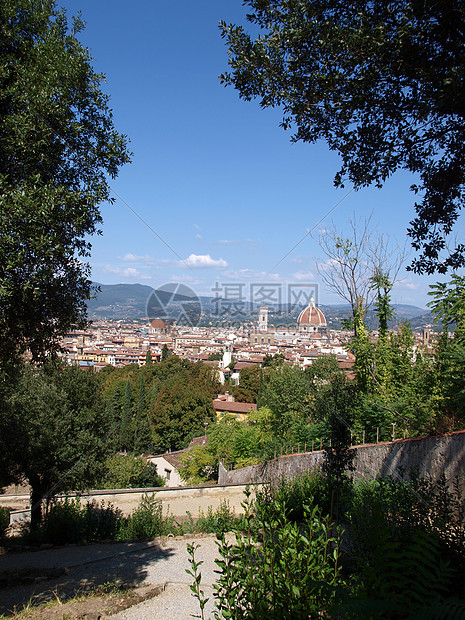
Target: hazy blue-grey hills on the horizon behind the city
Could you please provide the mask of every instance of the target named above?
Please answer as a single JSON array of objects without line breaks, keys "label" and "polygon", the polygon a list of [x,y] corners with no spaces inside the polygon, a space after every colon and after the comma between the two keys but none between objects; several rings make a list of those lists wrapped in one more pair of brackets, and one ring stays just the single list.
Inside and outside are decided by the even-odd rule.
[{"label": "hazy blue-grey hills on the horizon behind the city", "polygon": [[[87,304],[89,318],[93,320],[98,319],[140,319],[147,316],[146,304],[150,295],[153,293],[151,286],[144,284],[99,284],[94,282],[95,287],[99,287],[99,291],[96,292],[95,298],[89,300]],[[166,302],[170,298],[180,303],[189,300],[184,295],[175,294],[174,297],[171,293],[157,292],[159,298],[163,301],[166,296]],[[202,309],[207,316],[212,318],[218,318],[215,314],[215,301],[218,300],[214,297],[200,297]],[[334,304],[334,305],[319,305],[321,310],[326,316],[328,325],[333,329],[339,329],[341,321],[344,318],[350,318],[351,311],[348,304]],[[273,306],[270,306],[270,323],[276,324],[289,324],[292,325],[297,320],[297,316],[302,308],[293,308],[288,314],[275,311]],[[258,307],[255,308],[253,304],[246,303],[244,305],[244,319],[256,320]],[[399,321],[408,320],[413,329],[421,329],[425,325],[429,325],[433,322],[430,312],[425,311],[418,306],[411,306],[408,304],[394,304],[395,321],[394,324]],[[227,318],[227,317],[223,317]],[[235,315],[235,320],[239,317]],[[376,317],[373,310],[370,310],[367,315],[367,324],[370,329],[376,328]]]}]

